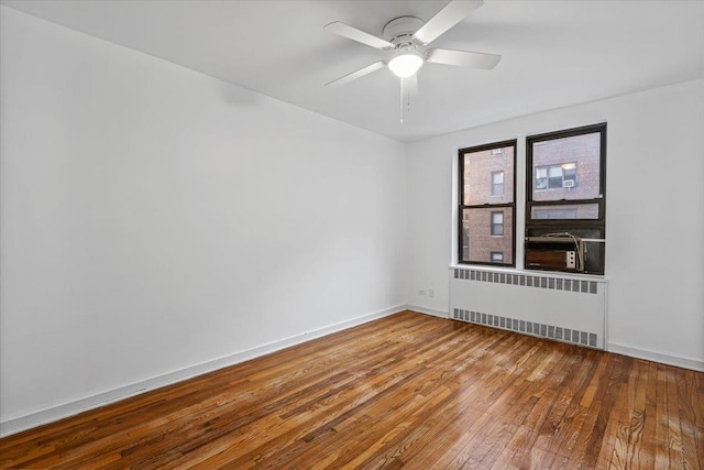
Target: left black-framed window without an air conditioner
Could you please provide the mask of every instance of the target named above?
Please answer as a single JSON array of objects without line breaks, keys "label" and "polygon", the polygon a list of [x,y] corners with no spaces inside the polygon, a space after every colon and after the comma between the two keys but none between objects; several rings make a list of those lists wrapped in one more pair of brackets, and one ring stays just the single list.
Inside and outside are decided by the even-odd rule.
[{"label": "left black-framed window without an air conditioner", "polygon": [[459,152],[459,262],[515,266],[516,141]]}]

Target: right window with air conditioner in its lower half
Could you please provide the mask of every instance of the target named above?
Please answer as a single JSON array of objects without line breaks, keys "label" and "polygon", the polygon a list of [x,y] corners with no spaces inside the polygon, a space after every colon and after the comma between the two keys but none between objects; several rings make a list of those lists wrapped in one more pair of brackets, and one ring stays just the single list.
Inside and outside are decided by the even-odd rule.
[{"label": "right window with air conditioner in its lower half", "polygon": [[526,166],[526,237],[586,239],[583,272],[604,274],[606,124],[528,136]]}]

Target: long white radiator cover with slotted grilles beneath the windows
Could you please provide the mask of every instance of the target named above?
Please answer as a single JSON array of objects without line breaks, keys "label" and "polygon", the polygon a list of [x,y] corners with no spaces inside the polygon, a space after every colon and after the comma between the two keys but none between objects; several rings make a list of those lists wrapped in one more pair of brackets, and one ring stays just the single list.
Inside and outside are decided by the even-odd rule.
[{"label": "long white radiator cover with slotted grilles beneath the windows", "polygon": [[450,273],[450,315],[457,320],[605,347],[605,280],[474,267]]}]

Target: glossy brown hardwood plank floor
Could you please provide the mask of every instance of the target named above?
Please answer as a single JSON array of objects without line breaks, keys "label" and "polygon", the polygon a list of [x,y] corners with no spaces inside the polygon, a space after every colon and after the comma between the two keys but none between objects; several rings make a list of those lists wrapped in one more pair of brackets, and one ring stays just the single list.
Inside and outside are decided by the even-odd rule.
[{"label": "glossy brown hardwood plank floor", "polygon": [[702,462],[704,373],[410,311],[0,440],[2,468]]}]

